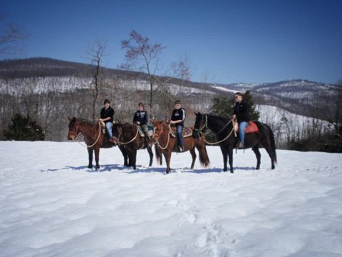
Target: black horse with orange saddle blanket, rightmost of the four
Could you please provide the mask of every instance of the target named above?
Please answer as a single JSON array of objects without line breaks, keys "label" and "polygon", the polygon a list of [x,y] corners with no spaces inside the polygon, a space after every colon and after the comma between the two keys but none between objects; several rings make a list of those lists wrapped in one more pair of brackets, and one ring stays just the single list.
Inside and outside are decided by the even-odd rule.
[{"label": "black horse with orange saddle blanket, rightmost of the four", "polygon": [[[196,114],[196,113],[195,113]],[[271,158],[271,169],[274,169],[274,163],[276,163],[276,144],[274,142],[274,134],[271,128],[267,124],[263,124],[259,121],[254,121],[259,129],[258,132],[246,133],[244,146],[245,148],[252,148],[257,157],[257,167],[260,168],[260,159],[261,154],[259,151],[259,145],[261,144],[266,149],[267,153],[269,153],[269,157]],[[237,146],[238,137],[233,136],[234,126],[232,120],[224,119],[220,116],[211,115],[211,114],[196,114],[195,120],[195,129],[192,135],[195,138],[198,138],[205,133],[205,131],[209,128],[212,132],[214,132],[219,146],[223,155],[223,171],[227,171],[227,155],[229,156],[229,166],[230,172],[233,171],[233,148]],[[216,144],[209,143],[208,144]]]}]

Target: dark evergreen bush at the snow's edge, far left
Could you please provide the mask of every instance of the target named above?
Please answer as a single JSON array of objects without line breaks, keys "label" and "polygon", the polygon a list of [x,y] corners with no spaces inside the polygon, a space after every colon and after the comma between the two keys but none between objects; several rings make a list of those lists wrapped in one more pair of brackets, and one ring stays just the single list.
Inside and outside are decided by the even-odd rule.
[{"label": "dark evergreen bush at the snow's edge, far left", "polygon": [[9,129],[4,130],[4,137],[7,140],[16,141],[43,141],[45,133],[41,126],[36,121],[33,121],[30,116],[22,116],[15,114],[11,119],[12,125]]}]

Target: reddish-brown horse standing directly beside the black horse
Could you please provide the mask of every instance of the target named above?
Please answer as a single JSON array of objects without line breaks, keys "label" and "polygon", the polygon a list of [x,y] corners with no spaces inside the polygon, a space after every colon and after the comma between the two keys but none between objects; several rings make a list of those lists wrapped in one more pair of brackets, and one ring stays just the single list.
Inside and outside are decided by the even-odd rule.
[{"label": "reddish-brown horse standing directly beside the black horse", "polygon": [[[165,121],[151,121],[153,124],[153,141],[156,142],[156,156],[157,161],[161,162],[162,154],[164,154],[165,160],[166,160],[166,173],[170,173],[170,160],[171,160],[171,153],[172,151],[177,151],[177,136],[173,137],[170,135],[170,130],[172,129],[169,124],[167,124]],[[190,129],[193,129],[193,127],[190,127]],[[175,132],[175,129],[173,129]],[[196,153],[195,153],[195,147],[199,151],[199,161],[201,162],[202,166],[209,166],[209,158],[207,155],[207,149],[205,148],[205,143],[202,140],[202,138],[193,138],[192,136],[188,136],[184,138],[184,146],[185,151],[190,151],[192,156],[192,163],[191,168],[194,168],[194,164],[196,161]]]}]

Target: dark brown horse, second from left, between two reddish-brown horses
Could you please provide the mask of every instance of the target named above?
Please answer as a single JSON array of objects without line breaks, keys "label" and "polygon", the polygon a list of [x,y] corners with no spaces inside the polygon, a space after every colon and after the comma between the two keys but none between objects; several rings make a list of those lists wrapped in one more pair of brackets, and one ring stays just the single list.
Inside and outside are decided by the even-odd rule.
[{"label": "dark brown horse, second from left, between two reddish-brown horses", "polygon": [[153,153],[152,148],[148,144],[145,137],[140,136],[139,126],[135,124],[113,124],[113,143],[120,146],[123,152],[124,166],[136,169],[137,151],[147,148],[150,155],[150,163],[152,166]]}]

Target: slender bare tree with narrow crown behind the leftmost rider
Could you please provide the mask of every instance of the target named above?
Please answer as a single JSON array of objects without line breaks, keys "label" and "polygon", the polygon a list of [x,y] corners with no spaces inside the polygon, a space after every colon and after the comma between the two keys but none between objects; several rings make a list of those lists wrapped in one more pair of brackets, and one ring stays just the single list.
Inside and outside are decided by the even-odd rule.
[{"label": "slender bare tree with narrow crown behind the leftmost rider", "polygon": [[95,73],[92,74],[94,77],[93,83],[91,84],[93,103],[92,103],[92,118],[95,121],[95,109],[96,101],[98,99],[98,94],[103,89],[102,71],[101,71],[101,61],[103,60],[103,53],[107,46],[106,40],[96,40],[95,43],[90,47],[88,51],[88,59],[91,64],[95,65]]}]

